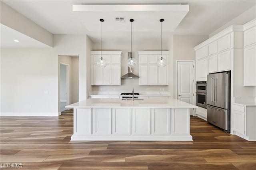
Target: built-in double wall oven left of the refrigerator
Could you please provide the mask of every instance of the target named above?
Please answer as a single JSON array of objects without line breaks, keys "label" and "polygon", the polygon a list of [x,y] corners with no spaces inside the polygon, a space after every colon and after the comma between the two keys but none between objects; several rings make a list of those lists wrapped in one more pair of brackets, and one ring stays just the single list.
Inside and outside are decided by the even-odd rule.
[{"label": "built-in double wall oven left of the refrigerator", "polygon": [[196,82],[196,105],[206,109],[206,96],[207,96],[207,83],[206,81]]}]

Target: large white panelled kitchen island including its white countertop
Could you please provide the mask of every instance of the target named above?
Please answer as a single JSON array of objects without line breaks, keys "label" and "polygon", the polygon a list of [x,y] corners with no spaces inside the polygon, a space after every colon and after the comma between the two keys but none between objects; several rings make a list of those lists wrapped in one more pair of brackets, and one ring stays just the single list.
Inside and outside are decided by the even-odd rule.
[{"label": "large white panelled kitchen island including its white countertop", "polygon": [[176,99],[87,99],[74,108],[71,140],[192,140],[190,109]]}]

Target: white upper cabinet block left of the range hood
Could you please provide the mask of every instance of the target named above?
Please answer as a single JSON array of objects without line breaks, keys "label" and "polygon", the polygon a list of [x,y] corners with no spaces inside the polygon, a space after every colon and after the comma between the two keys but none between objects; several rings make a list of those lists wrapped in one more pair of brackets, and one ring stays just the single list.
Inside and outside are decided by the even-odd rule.
[{"label": "white upper cabinet block left of the range hood", "polygon": [[106,67],[98,67],[97,61],[101,51],[91,51],[91,85],[121,85],[121,53],[122,51],[102,51],[106,59]]}]

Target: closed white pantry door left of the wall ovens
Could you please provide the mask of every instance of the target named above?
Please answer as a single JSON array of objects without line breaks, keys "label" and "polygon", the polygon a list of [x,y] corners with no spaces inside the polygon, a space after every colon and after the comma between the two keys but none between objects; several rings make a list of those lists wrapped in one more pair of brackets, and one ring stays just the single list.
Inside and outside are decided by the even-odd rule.
[{"label": "closed white pantry door left of the wall ovens", "polygon": [[[194,61],[177,63],[177,99],[194,105]],[[190,115],[193,115],[193,109]]]}]

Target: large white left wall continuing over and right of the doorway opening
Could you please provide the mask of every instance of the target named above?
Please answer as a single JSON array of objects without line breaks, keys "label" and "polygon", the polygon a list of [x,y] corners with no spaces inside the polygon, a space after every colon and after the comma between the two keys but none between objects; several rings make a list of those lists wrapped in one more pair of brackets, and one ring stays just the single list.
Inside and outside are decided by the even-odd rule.
[{"label": "large white left wall continuing over and right of the doorway opening", "polygon": [[86,99],[86,35],[54,35],[54,48],[1,48],[1,115],[59,115],[58,55],[79,56]]}]

